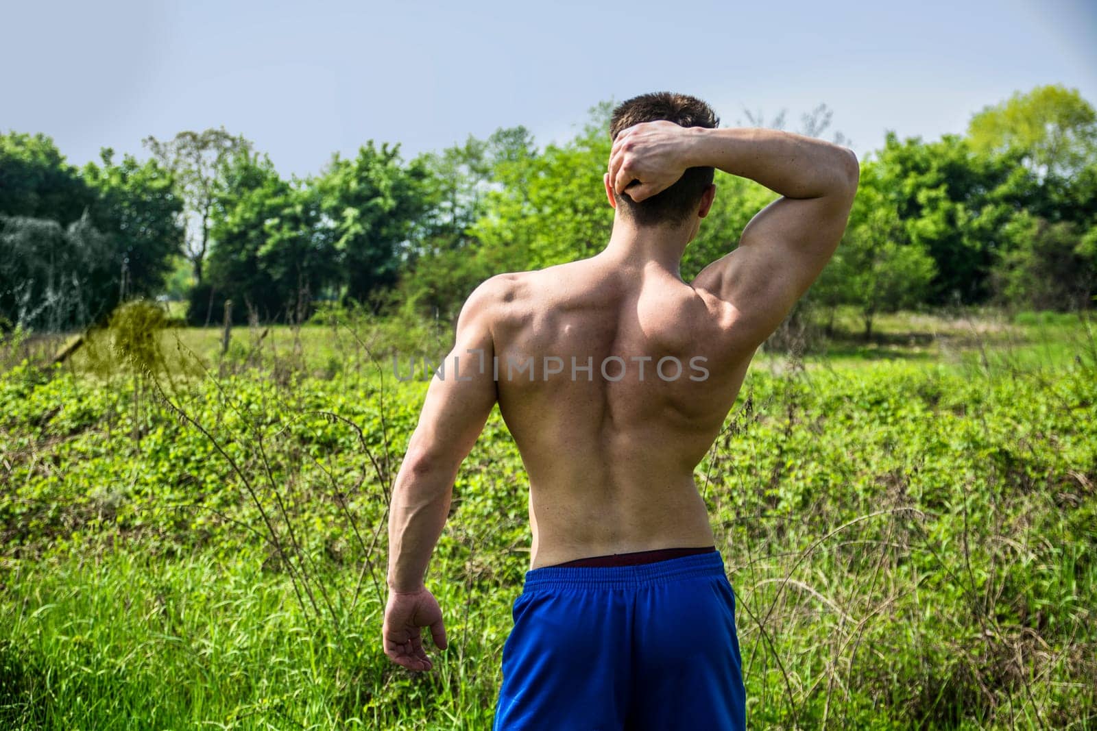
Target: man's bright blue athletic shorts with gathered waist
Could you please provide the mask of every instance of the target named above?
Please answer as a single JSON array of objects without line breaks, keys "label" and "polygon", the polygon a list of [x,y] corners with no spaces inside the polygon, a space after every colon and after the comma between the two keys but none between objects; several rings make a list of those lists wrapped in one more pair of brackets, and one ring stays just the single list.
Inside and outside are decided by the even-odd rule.
[{"label": "man's bright blue athletic shorts with gathered waist", "polygon": [[719,552],[525,574],[495,728],[745,729],[735,595]]}]

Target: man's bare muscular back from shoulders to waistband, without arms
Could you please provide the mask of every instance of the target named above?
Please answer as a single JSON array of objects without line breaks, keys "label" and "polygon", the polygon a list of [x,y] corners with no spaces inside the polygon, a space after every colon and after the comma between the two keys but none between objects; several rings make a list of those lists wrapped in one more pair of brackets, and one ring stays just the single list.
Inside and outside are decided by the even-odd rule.
[{"label": "man's bare muscular back from shoulders to waistband, without arms", "polygon": [[713,545],[693,468],[753,349],[734,342],[726,302],[630,259],[608,250],[497,284],[498,401],[530,477],[534,568]]}]

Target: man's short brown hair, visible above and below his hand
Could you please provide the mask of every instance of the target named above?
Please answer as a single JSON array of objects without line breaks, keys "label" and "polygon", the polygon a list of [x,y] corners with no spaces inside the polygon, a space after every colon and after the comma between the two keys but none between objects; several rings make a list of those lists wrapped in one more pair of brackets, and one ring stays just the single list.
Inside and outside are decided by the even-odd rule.
[{"label": "man's short brown hair, visible above and below his hand", "polygon": [[[659,91],[633,96],[613,110],[610,117],[610,139],[617,139],[622,129],[640,124],[666,119],[682,127],[708,127],[720,124],[712,107],[695,96]],[[677,183],[658,195],[636,203],[627,194],[615,195],[619,208],[624,208],[638,226],[680,224],[697,210],[705,189],[712,185],[712,168],[689,168]]]}]

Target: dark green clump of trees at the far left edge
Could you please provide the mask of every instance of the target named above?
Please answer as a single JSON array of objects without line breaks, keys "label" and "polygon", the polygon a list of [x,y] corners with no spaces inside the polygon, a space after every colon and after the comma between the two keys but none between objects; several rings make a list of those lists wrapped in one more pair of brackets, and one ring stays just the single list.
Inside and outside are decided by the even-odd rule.
[{"label": "dark green clump of trees at the far left edge", "polygon": [[82,327],[162,286],[182,235],[172,179],[111,157],[78,174],[47,137],[0,136],[0,322]]}]

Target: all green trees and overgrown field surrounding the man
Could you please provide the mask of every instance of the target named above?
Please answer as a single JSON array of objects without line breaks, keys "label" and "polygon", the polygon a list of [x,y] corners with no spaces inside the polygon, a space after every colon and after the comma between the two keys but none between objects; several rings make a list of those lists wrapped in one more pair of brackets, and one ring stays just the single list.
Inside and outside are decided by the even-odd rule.
[{"label": "all green trees and overgrown field surrounding the man", "polygon": [[[306,180],[225,130],[82,170],[0,137],[0,728],[489,727],[525,476],[496,412],[428,580],[451,648],[388,663],[426,389],[391,357],[437,362],[484,277],[599,249],[604,115]],[[697,470],[751,727],[1097,728],[1095,140],[1048,87],[862,161]],[[771,197],[717,185],[685,276]]]}]

